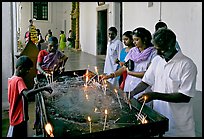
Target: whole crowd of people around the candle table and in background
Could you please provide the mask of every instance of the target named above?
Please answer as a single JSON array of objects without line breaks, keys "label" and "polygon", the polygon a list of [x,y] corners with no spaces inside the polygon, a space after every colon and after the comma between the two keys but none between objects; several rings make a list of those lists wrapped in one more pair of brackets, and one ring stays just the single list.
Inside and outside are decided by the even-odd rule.
[{"label": "whole crowd of people around the candle table and in background", "polygon": [[[40,50],[37,57],[38,74],[50,76],[52,71],[62,72],[62,67],[68,59],[64,54],[67,41],[64,31],[60,31],[58,42],[50,29],[44,39],[37,29],[37,36],[40,38],[37,41],[34,29],[33,22],[30,21],[29,31],[32,34],[30,40],[33,43],[39,44],[42,40],[48,42],[46,50],[41,50],[37,45]],[[182,53],[175,33],[167,28],[166,23],[159,21],[155,24],[154,33],[144,27],[137,27],[133,31],[124,32],[122,42],[117,38],[116,27],[110,27],[108,38],[102,79],[123,90],[127,103],[130,99],[137,99],[141,103],[145,101],[147,106],[166,116],[169,119],[169,131],[164,136],[195,137],[193,107],[190,100],[195,96],[197,67]],[[14,75],[9,78],[8,136],[21,135],[19,131],[26,132],[28,118],[24,98],[31,92],[35,94],[40,90],[52,90],[49,86],[27,90],[23,77],[31,67],[32,61],[21,56],[17,60]],[[129,92],[130,98],[127,97]],[[18,101],[18,97],[23,99]],[[14,110],[16,107],[20,113]]]}]

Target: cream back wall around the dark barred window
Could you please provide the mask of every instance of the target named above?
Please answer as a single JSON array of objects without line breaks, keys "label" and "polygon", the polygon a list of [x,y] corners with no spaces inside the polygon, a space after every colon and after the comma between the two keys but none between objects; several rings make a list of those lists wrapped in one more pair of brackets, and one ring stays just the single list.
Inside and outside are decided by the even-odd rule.
[{"label": "cream back wall around the dark barred window", "polygon": [[[48,21],[34,21],[36,28],[41,30],[43,37],[48,29],[52,30],[53,36],[59,38],[60,30],[64,30],[64,20],[66,20],[66,35],[71,28],[71,2],[48,2]],[[21,2],[21,40],[24,42],[24,34],[29,26],[29,19],[32,18],[32,2]]]}]

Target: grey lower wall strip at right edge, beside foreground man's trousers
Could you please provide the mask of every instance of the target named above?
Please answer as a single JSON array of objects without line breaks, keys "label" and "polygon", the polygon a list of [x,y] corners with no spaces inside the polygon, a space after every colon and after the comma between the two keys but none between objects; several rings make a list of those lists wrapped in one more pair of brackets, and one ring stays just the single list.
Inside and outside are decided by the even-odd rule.
[{"label": "grey lower wall strip at right edge, beside foreground man's trousers", "polygon": [[202,91],[197,91],[192,99],[193,113],[196,124],[196,137],[202,137]]}]

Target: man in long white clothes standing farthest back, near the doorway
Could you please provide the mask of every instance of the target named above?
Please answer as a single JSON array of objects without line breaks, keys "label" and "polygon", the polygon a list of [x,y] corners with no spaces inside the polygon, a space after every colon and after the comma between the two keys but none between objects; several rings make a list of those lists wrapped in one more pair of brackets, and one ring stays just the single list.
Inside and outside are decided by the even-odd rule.
[{"label": "man in long white clothes standing farthest back, near the doorway", "polygon": [[[123,48],[123,43],[119,39],[117,39],[116,36],[117,36],[117,29],[115,27],[110,27],[108,29],[109,41],[107,44],[106,59],[105,59],[105,65],[104,65],[105,74],[114,73],[118,68],[118,64],[116,63],[116,60],[120,59],[120,52]],[[111,78],[111,79],[108,79],[108,81],[111,84],[118,86],[117,78]]]}]

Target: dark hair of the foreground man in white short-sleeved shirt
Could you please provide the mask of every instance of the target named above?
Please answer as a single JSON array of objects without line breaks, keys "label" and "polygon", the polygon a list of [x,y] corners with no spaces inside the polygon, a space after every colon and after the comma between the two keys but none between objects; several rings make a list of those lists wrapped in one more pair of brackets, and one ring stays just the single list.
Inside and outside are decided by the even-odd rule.
[{"label": "dark hair of the foreground man in white short-sleeved shirt", "polygon": [[157,45],[159,48],[165,50],[170,49],[172,47],[175,47],[176,35],[170,29],[161,28],[153,34],[152,43],[154,45]]}]

